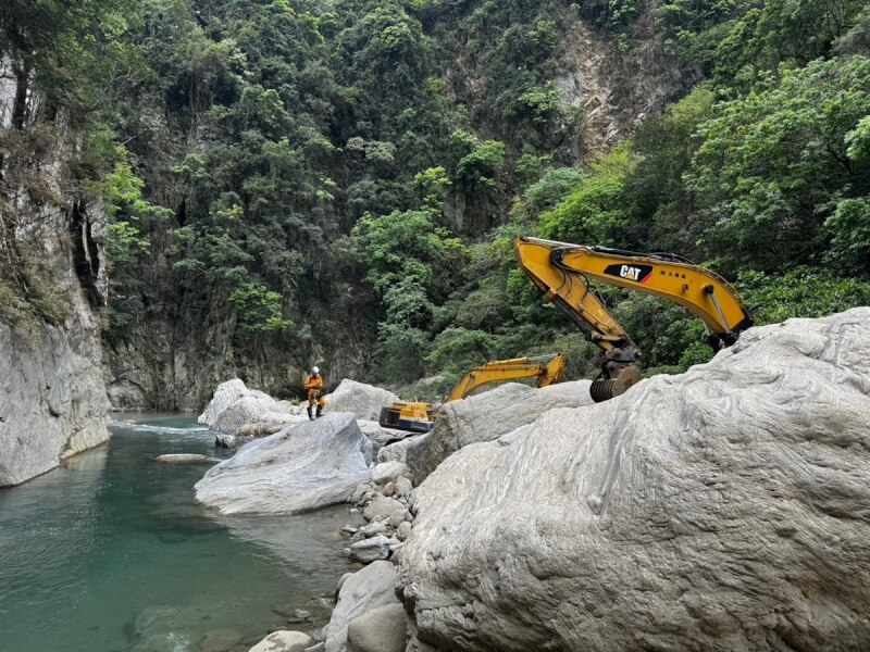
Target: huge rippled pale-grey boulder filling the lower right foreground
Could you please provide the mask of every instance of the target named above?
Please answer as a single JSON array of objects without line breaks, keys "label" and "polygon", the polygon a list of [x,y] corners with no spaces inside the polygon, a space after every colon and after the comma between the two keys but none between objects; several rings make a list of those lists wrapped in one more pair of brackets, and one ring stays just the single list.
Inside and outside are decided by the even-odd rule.
[{"label": "huge rippled pale-grey boulder filling the lower right foreground", "polygon": [[414,507],[409,650],[870,649],[870,309],[468,446]]}]

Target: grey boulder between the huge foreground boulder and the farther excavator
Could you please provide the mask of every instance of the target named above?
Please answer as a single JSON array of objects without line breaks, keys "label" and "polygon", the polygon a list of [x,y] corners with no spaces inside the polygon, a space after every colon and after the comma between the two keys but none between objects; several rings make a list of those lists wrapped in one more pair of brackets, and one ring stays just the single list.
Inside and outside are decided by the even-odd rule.
[{"label": "grey boulder between the huge foreground boulder and the farther excavator", "polygon": [[575,380],[540,389],[508,383],[461,401],[445,403],[432,430],[408,446],[405,462],[414,485],[449,455],[470,443],[494,441],[531,424],[554,408],[592,405],[589,381]]}]

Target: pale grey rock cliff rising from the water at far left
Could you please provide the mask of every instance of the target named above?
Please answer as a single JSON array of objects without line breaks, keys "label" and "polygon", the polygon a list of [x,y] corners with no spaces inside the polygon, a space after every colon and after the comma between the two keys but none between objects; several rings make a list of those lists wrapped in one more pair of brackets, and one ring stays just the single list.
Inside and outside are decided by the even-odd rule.
[{"label": "pale grey rock cliff rising from the water at far left", "polygon": [[[107,217],[70,196],[78,138],[22,70],[0,54],[0,487],[109,438],[96,314]],[[49,130],[53,142],[32,141]]]}]

